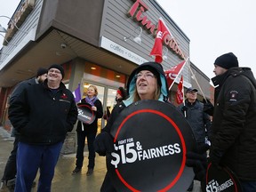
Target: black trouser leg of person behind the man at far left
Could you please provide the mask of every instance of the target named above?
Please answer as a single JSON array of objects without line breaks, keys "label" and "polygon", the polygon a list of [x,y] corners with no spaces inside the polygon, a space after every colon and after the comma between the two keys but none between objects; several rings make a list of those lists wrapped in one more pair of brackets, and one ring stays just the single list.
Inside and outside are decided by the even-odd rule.
[{"label": "black trouser leg of person behind the man at far left", "polygon": [[11,155],[9,156],[4,168],[4,175],[2,180],[12,180],[12,179],[15,179],[16,177],[16,173],[17,173],[16,155],[17,155],[18,143],[19,143],[19,139],[15,137]]}]

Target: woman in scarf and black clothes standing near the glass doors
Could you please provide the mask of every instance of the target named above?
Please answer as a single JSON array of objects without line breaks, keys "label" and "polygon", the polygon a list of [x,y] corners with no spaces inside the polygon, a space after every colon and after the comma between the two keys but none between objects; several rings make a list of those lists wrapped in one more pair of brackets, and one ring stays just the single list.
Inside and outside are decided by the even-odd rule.
[{"label": "woman in scarf and black clothes standing near the glass doors", "polygon": [[98,89],[94,85],[90,85],[87,89],[87,95],[84,99],[81,100],[81,104],[86,104],[92,106],[92,111],[95,113],[96,118],[93,122],[82,123],[78,121],[76,132],[77,132],[77,150],[76,150],[76,169],[72,172],[76,174],[77,172],[81,172],[84,162],[84,142],[85,137],[87,137],[87,145],[89,150],[89,164],[88,171],[86,172],[87,176],[92,175],[94,164],[95,164],[95,150],[93,148],[93,142],[95,140],[95,136],[98,128],[98,118],[103,116],[102,103],[97,98]]}]

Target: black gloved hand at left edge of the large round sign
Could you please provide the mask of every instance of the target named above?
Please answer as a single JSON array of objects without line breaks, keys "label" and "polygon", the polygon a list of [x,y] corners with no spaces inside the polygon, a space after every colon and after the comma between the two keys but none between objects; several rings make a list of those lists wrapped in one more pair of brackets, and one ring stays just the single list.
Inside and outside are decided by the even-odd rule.
[{"label": "black gloved hand at left edge of the large round sign", "polygon": [[114,151],[114,139],[108,132],[100,132],[95,138],[93,146],[100,156],[106,156],[107,153]]}]

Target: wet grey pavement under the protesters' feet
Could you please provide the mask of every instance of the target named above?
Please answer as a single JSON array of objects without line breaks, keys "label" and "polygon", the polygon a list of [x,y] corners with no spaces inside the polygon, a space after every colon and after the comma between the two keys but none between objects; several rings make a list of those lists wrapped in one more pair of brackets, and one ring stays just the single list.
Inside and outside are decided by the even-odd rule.
[{"label": "wet grey pavement under the protesters' feet", "polygon": [[[9,132],[6,132],[0,126],[0,177],[2,178],[4,166],[12,150],[13,138]],[[52,192],[100,192],[100,186],[107,172],[105,157],[96,156],[94,172],[91,176],[86,176],[88,164],[87,146],[84,151],[84,167],[82,172],[72,175],[71,172],[76,166],[76,154],[60,155],[58,164],[55,168],[54,178],[52,180]],[[36,184],[39,174],[36,176]],[[193,192],[200,191],[200,184],[195,181]],[[6,189],[0,189],[0,192],[8,192]],[[36,192],[36,187],[32,192]],[[182,191],[177,191],[182,192]]]}]

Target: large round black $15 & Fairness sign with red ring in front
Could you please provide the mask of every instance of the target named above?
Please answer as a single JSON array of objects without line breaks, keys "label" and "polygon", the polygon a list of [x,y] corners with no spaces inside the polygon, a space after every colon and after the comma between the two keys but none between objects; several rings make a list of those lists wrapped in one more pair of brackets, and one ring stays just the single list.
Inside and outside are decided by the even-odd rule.
[{"label": "large round black $15 & Fairness sign with red ring in front", "polygon": [[186,191],[194,178],[185,165],[196,141],[187,120],[158,100],[135,102],[118,115],[111,134],[115,152],[107,156],[117,191]]}]

